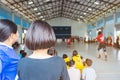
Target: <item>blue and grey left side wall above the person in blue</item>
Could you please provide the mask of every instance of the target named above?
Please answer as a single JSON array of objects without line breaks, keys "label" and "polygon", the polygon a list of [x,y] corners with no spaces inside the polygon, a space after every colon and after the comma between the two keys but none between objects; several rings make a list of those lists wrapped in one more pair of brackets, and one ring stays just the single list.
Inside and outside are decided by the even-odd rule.
[{"label": "blue and grey left side wall above the person in blue", "polygon": [[19,33],[18,42],[21,43],[21,37],[23,32],[22,28],[28,28],[30,21],[24,19],[19,14],[12,13],[11,10],[9,8],[6,8],[4,5],[0,5],[0,19],[9,19],[17,24]]}]

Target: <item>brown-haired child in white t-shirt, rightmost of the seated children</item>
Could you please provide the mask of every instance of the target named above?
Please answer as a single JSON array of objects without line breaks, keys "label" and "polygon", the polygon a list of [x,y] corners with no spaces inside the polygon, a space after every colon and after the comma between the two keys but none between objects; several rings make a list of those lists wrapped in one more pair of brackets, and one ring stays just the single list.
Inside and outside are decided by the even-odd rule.
[{"label": "brown-haired child in white t-shirt, rightmost of the seated children", "polygon": [[91,65],[92,60],[86,59],[86,68],[82,71],[82,80],[96,80],[96,72]]}]

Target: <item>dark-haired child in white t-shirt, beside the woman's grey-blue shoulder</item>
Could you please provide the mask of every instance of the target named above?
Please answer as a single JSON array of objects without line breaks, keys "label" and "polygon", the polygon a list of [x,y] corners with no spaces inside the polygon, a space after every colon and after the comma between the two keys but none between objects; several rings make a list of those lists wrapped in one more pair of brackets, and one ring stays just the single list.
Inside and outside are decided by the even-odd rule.
[{"label": "dark-haired child in white t-shirt, beside the woman's grey-blue shoulder", "polygon": [[79,69],[75,68],[75,61],[70,60],[69,62],[69,69],[68,69],[68,74],[70,77],[70,80],[80,80],[81,79],[81,74]]}]

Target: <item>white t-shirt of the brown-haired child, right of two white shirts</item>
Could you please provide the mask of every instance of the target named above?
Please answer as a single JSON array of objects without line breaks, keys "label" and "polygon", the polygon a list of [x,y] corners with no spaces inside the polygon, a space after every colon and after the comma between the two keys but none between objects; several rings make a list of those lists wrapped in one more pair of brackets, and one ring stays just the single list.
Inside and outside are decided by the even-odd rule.
[{"label": "white t-shirt of the brown-haired child, right of two white shirts", "polygon": [[83,69],[82,79],[84,79],[84,80],[96,80],[95,70],[91,67]]}]

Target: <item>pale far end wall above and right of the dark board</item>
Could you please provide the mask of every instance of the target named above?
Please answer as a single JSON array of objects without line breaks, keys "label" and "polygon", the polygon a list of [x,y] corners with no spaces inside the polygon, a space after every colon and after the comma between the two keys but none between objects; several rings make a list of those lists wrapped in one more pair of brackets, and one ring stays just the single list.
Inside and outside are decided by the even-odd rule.
[{"label": "pale far end wall above and right of the dark board", "polygon": [[51,26],[71,26],[72,36],[84,37],[87,31],[87,25],[81,21],[74,21],[67,18],[55,18],[47,21]]}]

